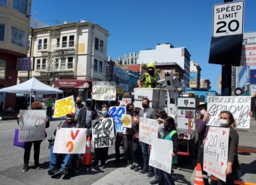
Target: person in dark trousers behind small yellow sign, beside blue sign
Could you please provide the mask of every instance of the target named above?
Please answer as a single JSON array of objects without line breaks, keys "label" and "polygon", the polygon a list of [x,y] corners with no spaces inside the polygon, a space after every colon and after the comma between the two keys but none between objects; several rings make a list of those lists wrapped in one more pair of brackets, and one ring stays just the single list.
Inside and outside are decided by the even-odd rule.
[{"label": "person in dark trousers behind small yellow sign, beside blue sign", "polygon": [[[126,114],[131,115],[131,111],[134,109],[132,102],[126,105]],[[128,146],[128,139],[133,137],[134,130],[125,128],[124,132],[115,133],[115,163],[120,163],[120,145],[123,141],[123,149],[125,149],[126,165],[132,164],[130,148]]]}]

